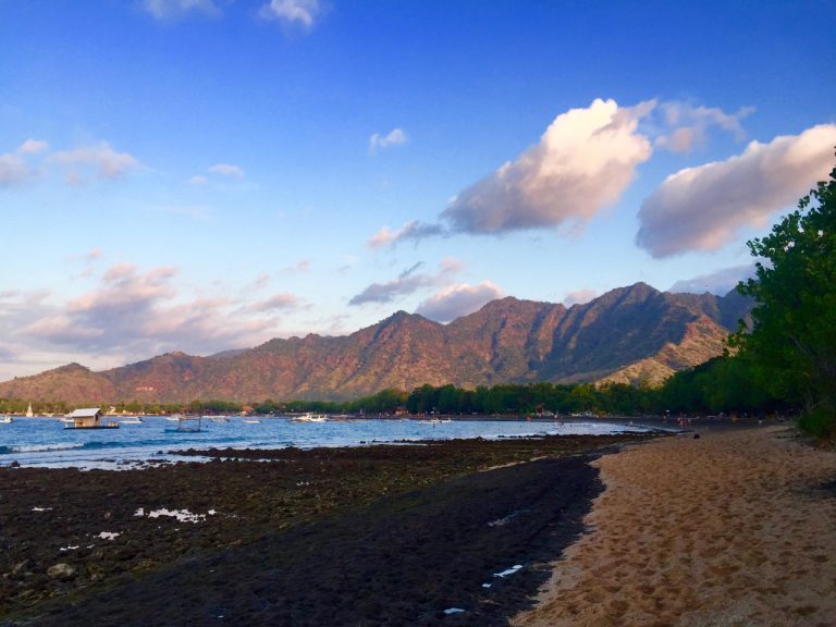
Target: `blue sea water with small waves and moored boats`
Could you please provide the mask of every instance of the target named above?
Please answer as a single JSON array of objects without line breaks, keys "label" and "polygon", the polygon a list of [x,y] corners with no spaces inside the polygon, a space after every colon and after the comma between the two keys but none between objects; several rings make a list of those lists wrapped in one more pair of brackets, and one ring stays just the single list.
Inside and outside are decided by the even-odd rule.
[{"label": "blue sea water with small waves and moored boats", "polygon": [[[159,416],[119,429],[65,429],[60,420],[45,417],[14,418],[0,425],[0,466],[128,468],[137,462],[164,463],[186,459],[186,448],[283,448],[297,446],[360,446],[421,440],[459,438],[512,438],[524,435],[585,435],[644,431],[640,426],[605,421],[453,420],[329,420],[293,422],[288,417],[245,422],[202,419],[196,433],[176,430],[177,423]],[[194,457],[188,457],[194,459]]]}]

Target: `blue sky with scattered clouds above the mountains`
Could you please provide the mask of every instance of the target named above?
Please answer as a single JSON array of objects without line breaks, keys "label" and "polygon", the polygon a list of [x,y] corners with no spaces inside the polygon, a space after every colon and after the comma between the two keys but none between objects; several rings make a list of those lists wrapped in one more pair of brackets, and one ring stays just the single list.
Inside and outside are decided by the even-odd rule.
[{"label": "blue sky with scattered clouds above the mountains", "polygon": [[834,19],[0,0],[0,380],[503,295],[722,293],[836,160]]}]

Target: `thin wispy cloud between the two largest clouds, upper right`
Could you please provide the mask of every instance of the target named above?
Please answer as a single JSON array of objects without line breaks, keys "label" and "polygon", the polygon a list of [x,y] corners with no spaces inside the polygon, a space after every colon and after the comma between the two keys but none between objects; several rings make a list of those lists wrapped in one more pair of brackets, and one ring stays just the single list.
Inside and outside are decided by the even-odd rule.
[{"label": "thin wispy cloud between the two largest clouds, upper right", "polygon": [[742,140],[746,132],[740,121],[753,112],[753,107],[741,107],[736,113],[726,113],[716,107],[662,102],[659,104],[659,113],[669,132],[657,136],[654,144],[672,152],[690,152],[705,144],[708,131],[712,127],[732,133],[736,139]]}]

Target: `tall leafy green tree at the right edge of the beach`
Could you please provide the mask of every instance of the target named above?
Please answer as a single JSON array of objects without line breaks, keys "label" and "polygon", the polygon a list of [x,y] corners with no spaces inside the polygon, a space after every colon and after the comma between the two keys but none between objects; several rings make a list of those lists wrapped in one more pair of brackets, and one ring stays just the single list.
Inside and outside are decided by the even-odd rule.
[{"label": "tall leafy green tree at the right edge of the beach", "polygon": [[772,233],[748,243],[757,276],[751,332],[732,339],[779,398],[798,397],[827,431],[836,426],[836,168]]}]

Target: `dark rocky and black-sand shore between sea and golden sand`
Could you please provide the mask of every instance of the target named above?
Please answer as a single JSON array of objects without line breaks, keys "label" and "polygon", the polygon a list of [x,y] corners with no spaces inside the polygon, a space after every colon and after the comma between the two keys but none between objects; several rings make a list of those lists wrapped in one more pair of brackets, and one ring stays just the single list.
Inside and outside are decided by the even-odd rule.
[{"label": "dark rocky and black-sand shore between sea and golden sand", "polygon": [[505,625],[582,531],[592,452],[647,438],[0,468],[0,625]]}]

